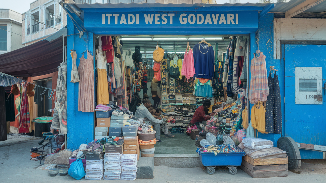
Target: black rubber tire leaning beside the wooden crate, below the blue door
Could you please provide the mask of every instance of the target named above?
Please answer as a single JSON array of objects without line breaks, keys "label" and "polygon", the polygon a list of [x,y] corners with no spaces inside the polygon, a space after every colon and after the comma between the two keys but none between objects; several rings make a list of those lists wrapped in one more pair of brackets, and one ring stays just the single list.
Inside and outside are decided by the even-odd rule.
[{"label": "black rubber tire leaning beside the wooden crate, below the blue door", "polygon": [[277,140],[277,147],[286,152],[289,158],[289,170],[300,168],[301,156],[297,143],[291,137],[281,137]]}]

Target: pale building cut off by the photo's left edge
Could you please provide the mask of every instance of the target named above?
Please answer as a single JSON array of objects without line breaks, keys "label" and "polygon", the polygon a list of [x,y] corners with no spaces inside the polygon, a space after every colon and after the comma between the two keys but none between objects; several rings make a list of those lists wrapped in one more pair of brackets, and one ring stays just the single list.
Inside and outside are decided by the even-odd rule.
[{"label": "pale building cut off by the photo's left edge", "polygon": [[22,14],[11,9],[0,9],[0,54],[22,46]]}]

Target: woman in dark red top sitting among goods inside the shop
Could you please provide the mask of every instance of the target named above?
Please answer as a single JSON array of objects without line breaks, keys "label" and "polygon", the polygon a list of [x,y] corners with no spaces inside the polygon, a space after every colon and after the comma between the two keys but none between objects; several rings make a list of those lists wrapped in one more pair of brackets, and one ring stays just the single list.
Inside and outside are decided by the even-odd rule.
[{"label": "woman in dark red top sitting among goods inside the shop", "polygon": [[[192,116],[192,119],[190,121],[190,123],[188,124],[188,127],[187,127],[187,134],[190,135],[190,132],[192,129],[197,129],[198,130],[201,130],[199,124],[202,122],[202,121],[207,121],[209,120],[213,115],[214,113],[211,113],[211,114],[208,114],[208,108],[211,107],[211,102],[209,100],[204,100],[203,105],[198,107],[195,111],[195,114]],[[195,128],[192,128],[196,126]]]}]

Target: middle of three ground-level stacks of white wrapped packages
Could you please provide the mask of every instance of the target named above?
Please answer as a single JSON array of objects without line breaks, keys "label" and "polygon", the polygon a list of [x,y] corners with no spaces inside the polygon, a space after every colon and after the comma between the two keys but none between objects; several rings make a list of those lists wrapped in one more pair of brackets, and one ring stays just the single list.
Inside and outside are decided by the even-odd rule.
[{"label": "middle of three ground-level stacks of white wrapped packages", "polygon": [[121,166],[120,157],[121,153],[105,153],[104,158],[104,180],[120,180]]}]

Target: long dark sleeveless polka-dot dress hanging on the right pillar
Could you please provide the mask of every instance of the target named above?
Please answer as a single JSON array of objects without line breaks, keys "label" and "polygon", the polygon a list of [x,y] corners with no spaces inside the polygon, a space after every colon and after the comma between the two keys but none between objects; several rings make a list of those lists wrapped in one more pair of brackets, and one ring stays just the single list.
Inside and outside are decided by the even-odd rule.
[{"label": "long dark sleeveless polka-dot dress hanging on the right pillar", "polygon": [[[272,71],[272,70],[271,70]],[[276,71],[274,77],[269,72],[268,88],[270,90],[266,101],[266,132],[282,133],[282,113],[280,84]]]}]

